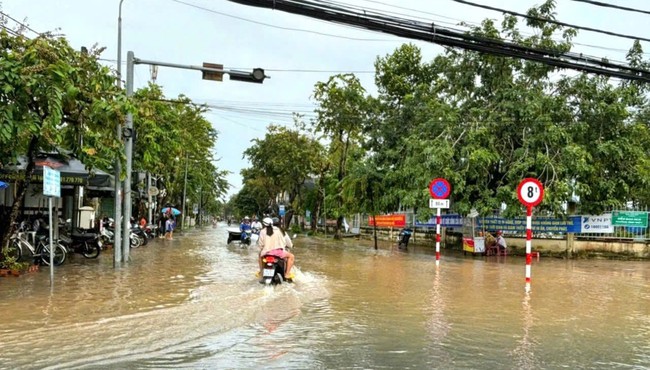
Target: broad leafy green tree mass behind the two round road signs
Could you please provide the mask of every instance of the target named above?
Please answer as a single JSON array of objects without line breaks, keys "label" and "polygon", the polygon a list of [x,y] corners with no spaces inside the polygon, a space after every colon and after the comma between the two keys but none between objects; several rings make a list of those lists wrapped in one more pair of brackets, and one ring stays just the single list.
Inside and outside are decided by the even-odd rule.
[{"label": "broad leafy green tree mass behind the two round road signs", "polygon": [[[530,10],[554,16],[554,2]],[[517,19],[492,20],[472,34],[554,52],[571,49],[575,30],[529,21],[523,37]],[[562,40],[551,36],[562,34]],[[635,45],[628,55],[640,62]],[[579,74],[557,76],[554,67],[517,58],[447,50],[423,62],[412,45],[376,62],[382,114],[368,131],[369,149],[386,171],[387,206],[418,207],[434,177],[453,187],[453,207],[486,214],[506,204],[520,214],[515,189],[524,177],[546,188],[541,208],[561,214],[574,195],[583,210],[602,211],[631,199],[647,183],[642,125],[632,124],[644,102],[639,84],[614,84]],[[639,171],[641,170],[641,171]],[[429,212],[426,208],[423,212]]]}]

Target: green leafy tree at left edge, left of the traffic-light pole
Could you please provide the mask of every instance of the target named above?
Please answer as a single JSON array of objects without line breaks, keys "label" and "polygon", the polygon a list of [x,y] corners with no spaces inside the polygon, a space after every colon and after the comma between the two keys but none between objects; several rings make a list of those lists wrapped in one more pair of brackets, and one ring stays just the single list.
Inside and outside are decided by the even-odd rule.
[{"label": "green leafy tree at left edge, left of the traffic-light pole", "polygon": [[116,125],[124,117],[125,98],[111,71],[98,63],[101,51],[78,52],[62,37],[28,39],[0,31],[0,164],[27,158],[11,215],[0,225],[2,245],[39,152],[68,151],[90,169],[122,159]]}]

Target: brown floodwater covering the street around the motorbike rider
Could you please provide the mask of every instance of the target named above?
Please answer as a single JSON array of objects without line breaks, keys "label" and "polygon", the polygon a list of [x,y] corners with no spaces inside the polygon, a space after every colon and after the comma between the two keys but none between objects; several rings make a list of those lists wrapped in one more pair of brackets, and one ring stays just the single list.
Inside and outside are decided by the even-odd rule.
[{"label": "brown floodwater covering the street around the motorbike rider", "polygon": [[650,264],[524,259],[298,237],[296,283],[261,286],[225,225],[114,269],[75,255],[0,279],[3,369],[647,369]]}]

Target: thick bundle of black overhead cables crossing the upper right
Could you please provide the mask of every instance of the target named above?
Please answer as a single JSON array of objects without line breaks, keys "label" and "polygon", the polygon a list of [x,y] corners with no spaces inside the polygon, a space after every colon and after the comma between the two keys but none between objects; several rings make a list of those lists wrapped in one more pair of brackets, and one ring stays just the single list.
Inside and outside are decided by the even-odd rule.
[{"label": "thick bundle of black overhead cables crossing the upper right", "polygon": [[[650,71],[577,53],[540,49],[501,39],[478,36],[392,15],[353,11],[345,7],[309,0],[229,0],[231,2],[300,14],[361,29],[432,42],[470,51],[525,59],[542,64],[626,80],[650,82]],[[546,21],[546,20],[544,20]]]}]

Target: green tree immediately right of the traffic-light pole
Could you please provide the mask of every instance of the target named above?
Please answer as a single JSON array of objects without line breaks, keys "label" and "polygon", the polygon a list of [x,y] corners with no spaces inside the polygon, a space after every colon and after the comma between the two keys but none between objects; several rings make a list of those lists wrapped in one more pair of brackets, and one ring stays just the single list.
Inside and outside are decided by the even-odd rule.
[{"label": "green tree immediately right of the traffic-light pole", "polygon": [[155,84],[139,89],[134,104],[134,169],[163,179],[167,192],[159,208],[167,203],[180,207],[185,188],[191,204],[200,203],[201,209],[217,206],[216,200],[228,190],[228,173],[215,164],[218,133],[203,117],[206,108],[182,95],[167,99]]}]

